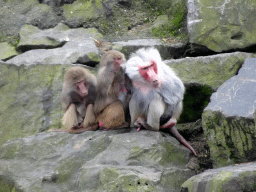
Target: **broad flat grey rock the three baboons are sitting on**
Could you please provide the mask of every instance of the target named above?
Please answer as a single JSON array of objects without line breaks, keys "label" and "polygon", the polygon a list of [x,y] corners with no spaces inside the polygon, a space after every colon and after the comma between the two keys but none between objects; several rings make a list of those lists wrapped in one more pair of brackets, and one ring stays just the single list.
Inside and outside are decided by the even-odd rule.
[{"label": "broad flat grey rock the three baboons are sitting on", "polygon": [[136,129],[38,133],[0,150],[3,184],[24,191],[180,191],[195,171],[168,134]]}]

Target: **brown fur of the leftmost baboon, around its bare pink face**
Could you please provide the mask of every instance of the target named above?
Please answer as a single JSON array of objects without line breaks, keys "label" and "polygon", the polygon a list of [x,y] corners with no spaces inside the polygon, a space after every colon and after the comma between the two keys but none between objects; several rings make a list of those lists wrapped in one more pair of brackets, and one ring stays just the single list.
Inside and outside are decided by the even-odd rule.
[{"label": "brown fur of the leftmost baboon, around its bare pink face", "polygon": [[[88,94],[82,97],[76,82],[84,80],[88,84]],[[81,133],[87,130],[97,129],[96,118],[93,111],[96,97],[96,78],[83,67],[72,67],[64,76],[61,94],[61,105],[64,111],[62,125],[66,128],[51,131],[63,131],[68,133]]]}]

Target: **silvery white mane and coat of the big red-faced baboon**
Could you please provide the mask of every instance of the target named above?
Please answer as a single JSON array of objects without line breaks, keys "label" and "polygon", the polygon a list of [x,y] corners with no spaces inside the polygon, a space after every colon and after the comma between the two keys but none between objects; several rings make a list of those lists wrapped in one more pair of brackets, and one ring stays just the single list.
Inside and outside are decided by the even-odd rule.
[{"label": "silvery white mane and coat of the big red-faced baboon", "polygon": [[[151,60],[157,63],[158,77],[161,81],[158,88],[153,88],[150,83],[146,82],[138,70],[138,66],[147,66]],[[135,85],[133,86],[132,102],[134,106],[140,106],[139,108],[130,109],[132,110],[130,111],[131,113],[147,113],[150,103],[159,95],[165,103],[164,113],[172,114],[178,118],[182,111],[185,88],[175,72],[162,61],[157,49],[139,49],[136,53],[132,54],[125,66],[126,74],[132,80],[133,85]],[[141,82],[141,85],[139,82]]]}]

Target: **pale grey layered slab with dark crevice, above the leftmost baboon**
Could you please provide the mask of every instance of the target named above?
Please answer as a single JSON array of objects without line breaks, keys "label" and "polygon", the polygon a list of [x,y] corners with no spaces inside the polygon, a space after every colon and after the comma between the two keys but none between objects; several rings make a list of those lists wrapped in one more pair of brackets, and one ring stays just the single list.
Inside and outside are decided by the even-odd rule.
[{"label": "pale grey layered slab with dark crevice, above the leftmost baboon", "polygon": [[80,63],[94,67],[100,61],[99,51],[92,38],[101,38],[102,35],[95,28],[70,29],[60,23],[53,29],[40,30],[31,25],[24,25],[20,35],[18,49],[30,51],[8,60],[7,63],[15,65]]}]

